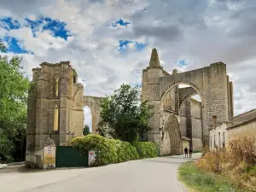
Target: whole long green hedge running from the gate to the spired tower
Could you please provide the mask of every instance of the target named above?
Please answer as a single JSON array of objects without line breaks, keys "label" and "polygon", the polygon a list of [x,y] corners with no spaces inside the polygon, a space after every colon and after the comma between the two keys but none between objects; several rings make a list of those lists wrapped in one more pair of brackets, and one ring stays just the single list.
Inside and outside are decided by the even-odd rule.
[{"label": "whole long green hedge running from the gate to the spired tower", "polygon": [[82,154],[94,150],[96,152],[96,166],[158,156],[157,145],[150,142],[131,144],[118,139],[109,139],[91,134],[84,137],[75,137],[72,143],[73,148],[76,148]]}]

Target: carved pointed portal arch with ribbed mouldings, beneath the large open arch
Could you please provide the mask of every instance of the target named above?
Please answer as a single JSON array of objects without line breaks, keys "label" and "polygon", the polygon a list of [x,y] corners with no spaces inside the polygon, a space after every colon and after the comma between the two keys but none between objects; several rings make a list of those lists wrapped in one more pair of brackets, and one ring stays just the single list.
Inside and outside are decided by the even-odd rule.
[{"label": "carved pointed portal arch with ribbed mouldings, beneath the large open arch", "polygon": [[[181,132],[177,118],[174,115],[171,115],[167,121],[164,128],[164,134],[162,140],[164,139],[165,134],[168,134],[170,137],[170,152],[171,154],[181,154],[182,153],[182,139]],[[163,143],[165,145],[165,143]],[[168,148],[168,146],[163,146],[163,148]]]}]

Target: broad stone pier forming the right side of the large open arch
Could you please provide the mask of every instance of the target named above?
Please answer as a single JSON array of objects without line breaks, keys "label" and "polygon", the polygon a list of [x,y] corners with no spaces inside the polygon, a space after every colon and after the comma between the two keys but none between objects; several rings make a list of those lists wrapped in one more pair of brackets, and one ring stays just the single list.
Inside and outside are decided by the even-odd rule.
[{"label": "broad stone pier forming the right side of the large open arch", "polygon": [[217,116],[218,123],[229,119],[226,65],[224,63],[212,63],[210,67],[204,68],[202,97],[204,104],[203,144],[208,146],[212,116]]}]

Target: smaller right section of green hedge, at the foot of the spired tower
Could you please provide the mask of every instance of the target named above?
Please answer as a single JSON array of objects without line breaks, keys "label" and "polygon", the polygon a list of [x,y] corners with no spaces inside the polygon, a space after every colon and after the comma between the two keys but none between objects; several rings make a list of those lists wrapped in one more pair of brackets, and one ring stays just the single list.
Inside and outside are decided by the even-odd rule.
[{"label": "smaller right section of green hedge, at the foot of the spired tower", "polygon": [[137,142],[133,143],[137,148],[140,158],[152,158],[158,156],[158,146],[152,142]]}]

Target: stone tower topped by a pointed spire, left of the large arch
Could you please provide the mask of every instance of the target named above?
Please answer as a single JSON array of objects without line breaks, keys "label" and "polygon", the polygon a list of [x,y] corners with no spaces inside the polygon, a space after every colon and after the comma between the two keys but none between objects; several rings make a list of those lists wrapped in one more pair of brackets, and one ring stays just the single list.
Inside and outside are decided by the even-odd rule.
[{"label": "stone tower topped by a pointed spire, left of the large arch", "polygon": [[160,66],[157,50],[151,52],[149,67],[143,70],[142,100],[153,106],[154,116],[149,119],[148,125],[152,130],[148,132],[148,141],[160,145],[160,83],[163,76],[163,67]]}]

